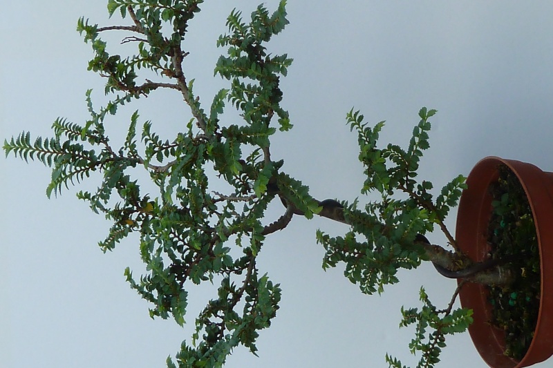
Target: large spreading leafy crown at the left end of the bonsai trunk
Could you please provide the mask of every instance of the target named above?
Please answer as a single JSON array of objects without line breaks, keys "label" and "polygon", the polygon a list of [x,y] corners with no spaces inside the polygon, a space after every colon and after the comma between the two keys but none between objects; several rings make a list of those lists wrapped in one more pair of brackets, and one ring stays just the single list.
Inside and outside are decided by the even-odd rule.
[{"label": "large spreading leafy crown at the left end of the bonsai trunk", "polygon": [[[262,223],[268,203],[282,191],[306,215],[318,209],[308,188],[279,173],[283,162],[272,161],[268,151],[276,131],[271,126],[274,115],[281,130],[291,127],[288,112],[280,105],[279,76],[286,75],[292,59],[273,57],[264,46],[288,23],[285,1],[272,15],[260,6],[247,26],[241,25],[238,12],[230,14],[227,26],[232,33],[218,41],[219,46],[229,46],[229,57],[216,64],[216,74],[228,79],[230,86],[214,96],[207,110],[194,95],[194,79],[187,80],[182,70],[187,55],[182,44],[201,3],[109,0],[110,16],[119,12],[130,26],[99,27],[79,19],[77,31],[94,52],[88,70],[106,79],[104,93],[110,100],[96,108],[88,90],[90,118],[84,124],[59,118],[51,138],[32,141],[30,133],[23,132],[3,145],[6,155],[37,159],[52,168],[48,197],[92,172],[101,175],[95,191],[79,191],[77,197],[111,222],[99,242],[102,251],[112,251],[131,233],[138,233],[146,273],[137,278],[127,268],[125,276],[131,288],[150,302],[152,318],[171,317],[182,326],[189,285],[220,282],[216,297],[196,318],[191,343],[182,342],[176,362],[168,358],[169,367],[219,367],[238,345],[255,353],[259,330],[270,325],[281,299],[279,285],[256,268],[269,232]],[[135,55],[109,52],[100,33],[113,30],[132,33],[123,43],[135,43]],[[169,83],[141,78],[142,69]],[[167,139],[156,133],[155,122],[139,122],[137,110],[129,119],[123,144],[113,146],[106,126],[111,116],[119,106],[158,88],[180,93],[193,118]],[[220,124],[226,101],[241,111],[243,124]],[[158,193],[143,193],[142,182],[133,177],[140,168]],[[220,181],[215,186],[207,176],[213,170]],[[213,191],[221,187],[229,188],[229,193]]]}]

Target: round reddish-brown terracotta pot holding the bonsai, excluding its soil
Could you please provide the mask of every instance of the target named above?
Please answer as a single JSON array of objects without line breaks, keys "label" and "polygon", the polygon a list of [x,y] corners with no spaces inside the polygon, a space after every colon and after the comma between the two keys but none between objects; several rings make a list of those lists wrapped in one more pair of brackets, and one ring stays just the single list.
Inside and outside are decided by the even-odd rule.
[{"label": "round reddish-brown terracotta pot holding the bonsai, excluding its soil", "polygon": [[488,186],[498,180],[498,166],[507,165],[521,182],[534,216],[540,251],[541,300],[534,340],[519,362],[503,355],[505,333],[487,323],[491,319],[491,304],[487,289],[467,283],[460,291],[462,307],[474,310],[474,323],[469,327],[472,341],[480,356],[494,368],[519,368],[546,360],[553,354],[553,173],[544,173],[532,164],[486,157],[467,178],[457,217],[457,241],[460,249],[476,262],[485,259],[487,226],[491,215],[491,195]]}]

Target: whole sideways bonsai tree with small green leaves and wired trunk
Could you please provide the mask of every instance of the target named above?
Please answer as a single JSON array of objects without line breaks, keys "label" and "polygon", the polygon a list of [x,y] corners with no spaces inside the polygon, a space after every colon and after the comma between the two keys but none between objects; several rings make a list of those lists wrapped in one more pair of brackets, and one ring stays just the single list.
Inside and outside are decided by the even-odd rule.
[{"label": "whole sideways bonsai tree with small green leaves and wired trunk", "polygon": [[[272,11],[259,6],[251,17],[239,10],[229,14],[228,31],[217,40],[224,55],[214,63],[216,77],[227,81],[227,88],[209,97],[196,95],[194,75],[183,67],[189,55],[188,26],[201,3],[110,0],[110,16],[120,14],[126,23],[102,27],[79,19],[77,30],[94,52],[88,69],[105,79],[109,101],[98,107],[88,90],[91,116],[86,122],[59,118],[52,137],[35,139],[24,131],[3,144],[6,155],[52,168],[48,197],[102,175],[95,191],[79,191],[77,197],[112,223],[99,242],[102,251],[112,251],[131,234],[140,238],[147,272],[134,275],[126,269],[125,275],[151,303],[151,317],[173,318],[182,326],[189,288],[218,284],[196,317],[192,336],[167,359],[168,367],[220,367],[238,346],[256,354],[259,331],[270,327],[281,300],[278,280],[256,260],[265,240],[285,231],[297,217],[322,216],[349,226],[340,236],[318,231],[317,242],[326,252],[323,268],[344,264],[344,275],[362,293],[382,293],[386,285],[398,282],[400,269],[425,261],[449,278],[512,281],[504,264],[474,264],[447,229],[445,219],[458,203],[465,177],[458,175],[437,191],[418,177],[436,110],[420,108],[419,122],[403,145],[379,142],[384,122],[371,126],[355,108],[346,112],[364,166],[360,192],[378,199],[360,205],[341,193],[313,197],[308,178],[287,173],[285,162],[271,151],[272,137],[294,124],[281,88],[292,59],[272,54],[267,45],[288,24],[286,2]],[[135,52],[111,53],[102,40],[106,32],[120,32],[122,43],[135,45]],[[178,95],[191,119],[176,136],[163,137],[155,128],[162,122],[144,121],[135,110],[118,144],[106,124],[109,119],[119,116],[122,106],[160,90]],[[229,117],[229,110],[238,115]],[[267,213],[275,204],[281,215],[273,218]],[[435,230],[444,235],[443,244],[430,244],[424,237]],[[409,348],[420,353],[419,367],[433,367],[446,337],[470,325],[471,311],[453,307],[460,287],[462,282],[447,305],[435,306],[421,288],[422,305],[402,308],[400,325],[416,326]],[[404,367],[391,355],[385,359],[391,367]]]}]

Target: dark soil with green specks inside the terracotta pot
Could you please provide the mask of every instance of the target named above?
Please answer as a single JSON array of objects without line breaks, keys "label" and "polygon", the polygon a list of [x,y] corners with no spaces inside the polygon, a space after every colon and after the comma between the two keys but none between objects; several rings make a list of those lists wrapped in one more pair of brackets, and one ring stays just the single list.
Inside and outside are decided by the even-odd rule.
[{"label": "dark soil with green specks inside the terracotta pot", "polygon": [[489,188],[493,211],[488,227],[491,258],[514,258],[516,278],[507,287],[488,287],[495,307],[491,325],[505,331],[505,355],[521,360],[528,350],[540,304],[540,258],[534,217],[521,183],[507,166]]}]

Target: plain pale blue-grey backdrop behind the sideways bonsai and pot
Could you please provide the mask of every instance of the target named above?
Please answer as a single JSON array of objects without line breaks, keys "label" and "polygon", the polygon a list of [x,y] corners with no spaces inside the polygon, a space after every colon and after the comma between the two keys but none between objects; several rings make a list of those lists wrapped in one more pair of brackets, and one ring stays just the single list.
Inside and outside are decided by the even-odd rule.
[{"label": "plain pale blue-grey backdrop behind the sideways bonsai and pot", "polygon": [[[206,1],[191,23],[187,72],[196,77],[202,101],[209,103],[225,86],[212,70],[223,52],[215,41],[226,30],[227,14],[236,6],[247,19],[258,1]],[[2,141],[21,130],[49,136],[58,116],[82,124],[87,88],[95,88],[96,106],[105,101],[104,81],[86,72],[90,48],[75,32],[82,15],[101,25],[120,23],[117,17],[107,20],[105,9],[102,0],[3,2]],[[275,137],[272,153],[315,197],[359,195],[357,137],[344,124],[352,106],[368,121],[386,119],[382,139],[398,144],[407,144],[421,106],[437,108],[420,172],[437,187],[466,175],[486,155],[553,169],[550,1],[290,0],[288,12],[291,24],[270,46],[295,60],[282,83],[283,106],[295,126]],[[105,39],[122,36],[113,32]],[[111,46],[114,52],[133,47]],[[160,93],[109,119],[106,126],[115,136],[124,134],[135,108],[141,122],[153,119],[168,139],[188,119],[178,95]],[[151,320],[147,302],[124,281],[124,267],[135,275],[143,269],[137,238],[104,255],[96,244],[109,223],[76,200],[74,188],[47,200],[48,168],[10,156],[0,159],[0,170],[0,366],[164,366],[190,336],[191,325],[180,329],[172,320]],[[94,189],[99,180],[91,177],[84,188]],[[277,206],[270,215],[280,212]],[[386,352],[415,365],[418,358],[407,348],[413,330],[397,328],[400,307],[420,306],[422,284],[444,306],[455,283],[424,264],[400,273],[402,283],[383,296],[365,296],[341,267],[322,271],[319,227],[335,235],[347,230],[325,219],[298,218],[265,245],[259,264],[281,283],[281,309],[261,332],[260,357],[236,349],[227,367],[385,367]],[[444,243],[439,233],[430,238]],[[189,322],[210,293],[193,291]],[[448,345],[440,367],[486,367],[468,334],[449,338]]]}]

